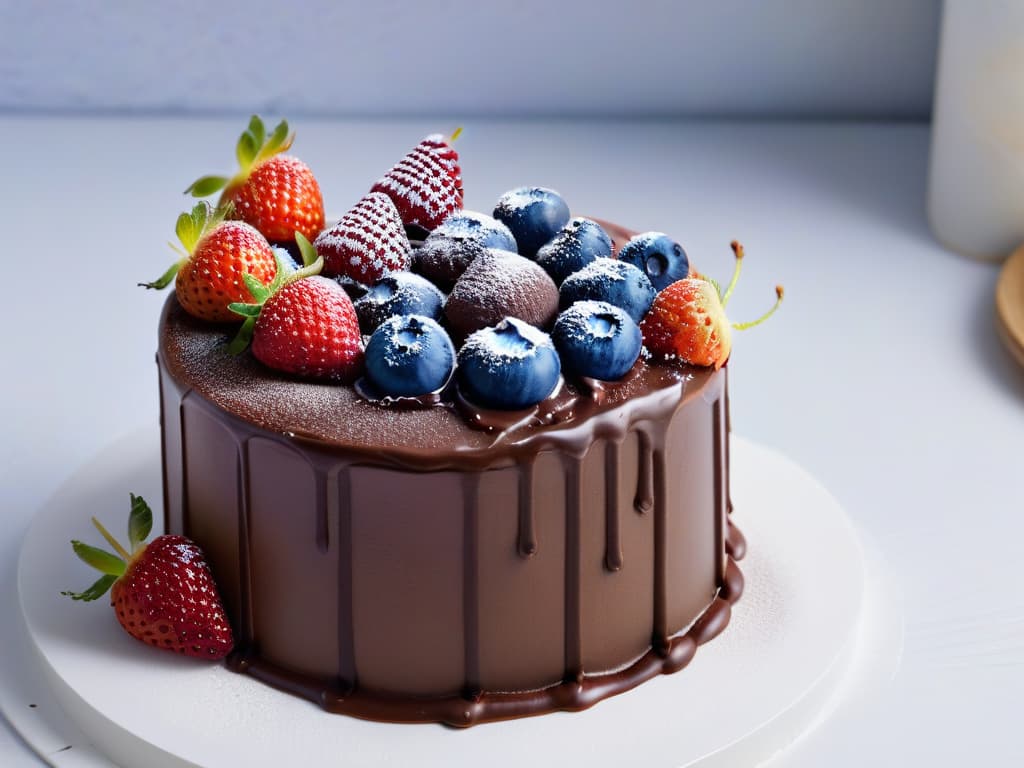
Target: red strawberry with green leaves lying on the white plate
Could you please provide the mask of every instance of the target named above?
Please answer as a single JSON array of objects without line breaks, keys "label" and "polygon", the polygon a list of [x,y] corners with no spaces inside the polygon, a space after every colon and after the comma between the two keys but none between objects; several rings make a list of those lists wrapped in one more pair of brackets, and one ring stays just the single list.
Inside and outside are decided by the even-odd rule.
[{"label": "red strawberry with green leaves lying on the white plate", "polygon": [[110,590],[118,622],[136,640],[197,658],[227,655],[231,627],[210,566],[194,542],[182,536],[159,536],[145,544],[153,513],[135,495],[128,517],[130,552],[95,517],[92,524],[118,554],[73,541],[75,554],[103,575],[84,592],[60,594],[88,601]]}]

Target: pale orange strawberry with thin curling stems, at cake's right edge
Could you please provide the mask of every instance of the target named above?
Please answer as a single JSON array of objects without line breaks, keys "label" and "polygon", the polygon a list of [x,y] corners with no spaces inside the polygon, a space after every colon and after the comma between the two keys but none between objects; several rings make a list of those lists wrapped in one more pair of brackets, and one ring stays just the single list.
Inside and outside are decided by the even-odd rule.
[{"label": "pale orange strawberry with thin curling stems, at cake's right edge", "polygon": [[782,301],[782,287],[775,287],[775,305],[764,315],[750,323],[729,323],[725,305],[736,287],[743,247],[733,241],[736,266],[725,293],[711,280],[684,278],[663,289],[651,305],[640,330],[647,349],[665,357],[679,359],[691,366],[720,369],[732,350],[732,329],[738,331],[763,323]]}]

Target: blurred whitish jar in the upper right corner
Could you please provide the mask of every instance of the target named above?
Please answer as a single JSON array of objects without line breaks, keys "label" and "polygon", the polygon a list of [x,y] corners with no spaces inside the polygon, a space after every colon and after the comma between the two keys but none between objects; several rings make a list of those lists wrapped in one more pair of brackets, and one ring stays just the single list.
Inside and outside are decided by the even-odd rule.
[{"label": "blurred whitish jar in the upper right corner", "polygon": [[966,256],[1024,243],[1024,2],[946,0],[932,117],[928,215]]}]

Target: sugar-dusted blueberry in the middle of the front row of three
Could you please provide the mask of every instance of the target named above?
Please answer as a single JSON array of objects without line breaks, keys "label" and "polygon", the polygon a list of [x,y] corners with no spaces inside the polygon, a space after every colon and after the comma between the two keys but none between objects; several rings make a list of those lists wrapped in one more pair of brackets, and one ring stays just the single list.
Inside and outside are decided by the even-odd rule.
[{"label": "sugar-dusted blueberry in the middle of the front row of three", "polygon": [[550,336],[520,319],[506,317],[466,340],[459,350],[458,371],[459,385],[474,403],[519,411],[551,394],[558,384],[561,364]]}]

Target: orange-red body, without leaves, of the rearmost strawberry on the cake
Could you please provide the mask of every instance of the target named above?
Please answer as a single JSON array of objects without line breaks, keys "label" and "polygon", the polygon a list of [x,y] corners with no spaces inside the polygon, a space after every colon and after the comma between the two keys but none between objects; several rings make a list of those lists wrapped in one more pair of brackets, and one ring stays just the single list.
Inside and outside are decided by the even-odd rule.
[{"label": "orange-red body, without leaves, of the rearmost strawberry on the cake", "polygon": [[313,172],[290,155],[274,155],[259,163],[245,183],[228,187],[224,202],[234,204],[232,216],[252,224],[271,243],[287,243],[302,232],[315,238],[324,228],[324,197]]}]

